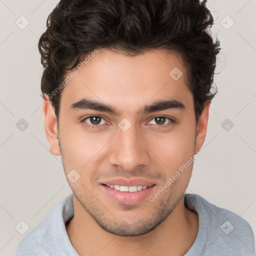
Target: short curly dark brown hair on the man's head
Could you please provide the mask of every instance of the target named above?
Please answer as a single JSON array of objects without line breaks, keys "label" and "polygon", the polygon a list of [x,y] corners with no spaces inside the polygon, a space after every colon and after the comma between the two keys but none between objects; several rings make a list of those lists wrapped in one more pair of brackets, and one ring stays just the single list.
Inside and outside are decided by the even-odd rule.
[{"label": "short curly dark brown hair on the man's head", "polygon": [[[211,91],[216,55],[220,51],[209,33],[213,17],[205,0],[61,0],[49,14],[38,48],[44,67],[41,91],[58,120],[59,93],[67,71],[95,48],[141,54],[148,49],[180,53],[188,87],[193,93],[196,120]],[[63,86],[61,86],[62,88]],[[54,95],[54,96],[52,96]]]}]

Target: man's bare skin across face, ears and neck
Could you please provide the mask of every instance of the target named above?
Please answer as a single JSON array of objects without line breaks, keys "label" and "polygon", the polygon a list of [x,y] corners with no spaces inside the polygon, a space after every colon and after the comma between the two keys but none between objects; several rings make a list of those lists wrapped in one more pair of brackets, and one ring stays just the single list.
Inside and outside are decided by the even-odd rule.
[{"label": "man's bare skin across face, ears and neck", "polygon": [[[183,75],[174,80],[169,72]],[[48,99],[43,102],[49,149],[61,155],[74,200],[74,217],[66,224],[79,255],[184,255],[198,231],[198,216],[184,206],[184,191],[192,164],[154,202],[125,205],[113,201],[100,187],[110,177],[140,177],[155,183],[156,193],[202,146],[207,128],[207,102],[196,124],[193,97],[186,86],[186,70],[178,53],[164,49],[126,56],[99,52],[65,85],[61,92],[59,127]],[[72,109],[82,98],[108,104],[114,115],[93,109]],[[155,100],[175,99],[184,108],[137,113]],[[87,116],[100,115],[97,127]],[[163,124],[154,117],[161,119]],[[118,123],[131,126],[123,131]],[[175,122],[171,122],[172,118]],[[85,119],[85,120],[84,120]],[[165,126],[164,126],[165,125]],[[128,235],[128,236],[125,236]]]}]

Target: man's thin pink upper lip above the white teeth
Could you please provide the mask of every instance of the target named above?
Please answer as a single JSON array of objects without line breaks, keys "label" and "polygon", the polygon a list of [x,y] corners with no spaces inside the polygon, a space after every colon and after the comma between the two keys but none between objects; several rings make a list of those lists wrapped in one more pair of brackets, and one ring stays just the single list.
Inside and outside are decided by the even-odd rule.
[{"label": "man's thin pink upper lip above the white teeth", "polygon": [[151,186],[154,185],[155,183],[141,178],[111,178],[102,181],[101,184],[119,186]]}]

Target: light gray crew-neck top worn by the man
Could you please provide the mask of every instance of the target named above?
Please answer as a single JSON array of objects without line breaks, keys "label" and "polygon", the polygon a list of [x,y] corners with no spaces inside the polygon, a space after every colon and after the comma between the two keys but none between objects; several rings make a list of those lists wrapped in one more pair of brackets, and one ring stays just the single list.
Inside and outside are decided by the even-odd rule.
[{"label": "light gray crew-neck top worn by the man", "polygon": [[[186,207],[199,216],[196,239],[184,256],[255,255],[253,232],[246,220],[197,194],[185,194],[184,198]],[[22,238],[16,256],[77,256],[65,229],[65,223],[73,214],[73,197],[70,194]]]}]

